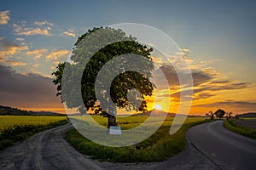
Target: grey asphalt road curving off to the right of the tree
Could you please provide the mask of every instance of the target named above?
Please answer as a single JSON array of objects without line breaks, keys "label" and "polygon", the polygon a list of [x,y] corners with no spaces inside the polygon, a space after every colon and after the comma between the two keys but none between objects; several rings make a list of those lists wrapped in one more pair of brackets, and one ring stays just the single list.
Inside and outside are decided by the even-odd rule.
[{"label": "grey asphalt road curving off to the right of the tree", "polygon": [[221,169],[256,169],[256,140],[227,130],[223,121],[191,127],[187,137]]}]

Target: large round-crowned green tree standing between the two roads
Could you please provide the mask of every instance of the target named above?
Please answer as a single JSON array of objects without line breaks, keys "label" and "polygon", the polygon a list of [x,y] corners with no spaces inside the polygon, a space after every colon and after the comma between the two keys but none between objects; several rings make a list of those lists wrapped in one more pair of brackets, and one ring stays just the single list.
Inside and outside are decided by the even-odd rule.
[{"label": "large round-crowned green tree standing between the two roads", "polygon": [[[99,50],[98,47],[100,48]],[[57,95],[61,96],[61,101],[65,102],[68,108],[79,108],[81,113],[86,111],[94,111],[96,114],[108,116],[108,126],[113,126],[115,116],[111,114],[116,107],[125,108],[126,110],[147,111],[147,102],[145,96],[152,95],[154,84],[149,81],[152,77],[151,72],[154,70],[154,63],[150,57],[152,48],[140,44],[135,37],[126,36],[125,32],[120,29],[109,27],[93,28],[78,38],[73,47],[70,61],[57,65],[57,70],[52,74],[55,76],[53,81],[57,85]],[[139,62],[130,62],[129,57],[117,58],[123,54],[137,54],[143,56]],[[99,71],[111,59],[116,59],[112,69],[105,71],[99,84],[102,101],[96,98],[96,79]],[[137,58],[139,59],[139,57]],[[84,66],[85,65],[85,66]],[[137,66],[137,71],[126,71],[127,66]],[[63,71],[67,69],[65,77]],[[123,69],[123,70],[122,70]],[[110,97],[104,96],[104,81],[108,80],[110,74],[119,70],[119,75],[114,77],[110,86]],[[77,72],[83,71],[83,76],[78,81],[76,79]],[[101,82],[102,81],[102,82]],[[63,82],[68,84],[68,88],[63,91]],[[73,84],[80,83],[80,89]],[[102,87],[101,87],[102,84]],[[102,89],[101,89],[102,88]],[[132,89],[136,88],[137,91]],[[127,94],[133,96],[133,100],[129,100]],[[79,101],[82,96],[83,102]],[[111,99],[110,99],[111,98]],[[113,101],[113,102],[109,102]],[[139,103],[137,106],[135,104]],[[102,105],[105,105],[102,108]],[[112,122],[109,122],[112,118]]]}]

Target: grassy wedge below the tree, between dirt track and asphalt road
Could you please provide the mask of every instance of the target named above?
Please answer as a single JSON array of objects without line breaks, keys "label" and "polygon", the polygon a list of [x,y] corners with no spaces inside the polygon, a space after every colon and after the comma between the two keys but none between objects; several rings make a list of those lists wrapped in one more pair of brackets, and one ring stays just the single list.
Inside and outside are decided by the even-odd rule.
[{"label": "grassy wedge below the tree, between dirt track and asphalt road", "polygon": [[[137,123],[140,120],[142,122],[144,121],[143,118],[138,116],[137,118],[131,116],[131,118],[137,119],[137,122],[129,122],[129,118],[126,121],[118,120],[120,122],[120,126],[122,127],[122,125],[129,125],[129,127],[133,127],[137,126]],[[164,161],[184,150],[186,145],[185,132],[187,129],[189,129],[189,127],[193,127],[204,122],[209,122],[208,120],[205,120],[205,118],[187,118],[186,122],[177,131],[177,133],[170,135],[169,131],[172,121],[172,117],[167,117],[166,121],[153,135],[151,135],[148,139],[145,139],[143,142],[132,146],[115,148],[96,144],[89,139],[85,139],[84,136],[82,136],[74,128],[67,131],[65,139],[67,139],[67,141],[79,152],[92,156],[93,159],[100,161]]]}]

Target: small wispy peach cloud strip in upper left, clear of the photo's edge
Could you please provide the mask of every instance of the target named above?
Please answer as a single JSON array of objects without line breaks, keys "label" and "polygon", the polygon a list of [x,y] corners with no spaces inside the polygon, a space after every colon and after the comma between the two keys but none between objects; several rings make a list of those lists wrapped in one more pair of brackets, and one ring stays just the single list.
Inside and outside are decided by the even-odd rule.
[{"label": "small wispy peach cloud strip in upper left, clear of the photo's edge", "polygon": [[52,36],[49,31],[54,24],[47,22],[46,20],[43,22],[35,21],[34,26],[37,27],[26,27],[26,22],[21,22],[20,25],[14,24],[15,34],[16,35],[25,35],[25,36],[32,36],[32,35],[43,35],[43,36]]}]

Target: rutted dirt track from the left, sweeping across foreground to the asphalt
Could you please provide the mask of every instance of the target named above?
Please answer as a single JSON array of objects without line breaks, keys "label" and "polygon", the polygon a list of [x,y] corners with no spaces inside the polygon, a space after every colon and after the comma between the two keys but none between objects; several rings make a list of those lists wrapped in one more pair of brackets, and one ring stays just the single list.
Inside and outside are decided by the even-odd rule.
[{"label": "rutted dirt track from the left, sweeping across foreground to the asphalt", "polygon": [[139,169],[218,169],[212,161],[191,144],[186,150],[167,161],[151,163],[111,163],[91,160],[73,149],[63,139],[67,124],[46,130],[14,146],[0,151],[0,169],[92,169],[92,170],[139,170]]}]

